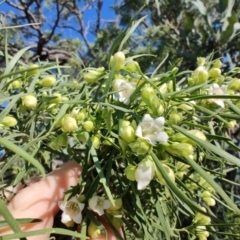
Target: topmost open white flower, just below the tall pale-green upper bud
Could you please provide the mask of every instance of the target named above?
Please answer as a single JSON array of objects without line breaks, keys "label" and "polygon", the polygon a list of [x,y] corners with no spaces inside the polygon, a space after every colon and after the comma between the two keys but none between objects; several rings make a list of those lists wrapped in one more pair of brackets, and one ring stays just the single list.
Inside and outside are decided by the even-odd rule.
[{"label": "topmost open white flower, just below the tall pale-green upper bud", "polygon": [[136,83],[127,82],[122,79],[115,80],[114,90],[117,91],[118,100],[125,104],[129,103],[129,98],[136,89]]}]

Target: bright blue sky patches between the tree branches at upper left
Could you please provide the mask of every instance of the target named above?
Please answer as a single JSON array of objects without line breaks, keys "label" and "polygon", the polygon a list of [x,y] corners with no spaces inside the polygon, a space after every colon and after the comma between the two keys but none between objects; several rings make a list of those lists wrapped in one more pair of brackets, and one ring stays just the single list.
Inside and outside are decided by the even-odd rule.
[{"label": "bright blue sky patches between the tree branches at upper left", "polygon": [[[1,2],[1,0],[0,0],[0,2]],[[114,4],[114,0],[104,0],[103,1],[103,7],[102,7],[102,12],[101,12],[103,20],[111,20],[111,19],[115,18],[114,10],[111,8],[111,5],[113,5],[113,4]],[[83,5],[83,4],[80,4],[80,6],[81,5]],[[7,3],[3,2],[2,4],[0,4],[0,12],[7,13],[8,11],[15,11],[15,9],[10,7]],[[47,14],[47,16],[51,16],[51,10],[48,10],[46,14]],[[96,11],[93,9],[89,9],[85,12],[85,15],[84,15],[85,27],[89,23],[96,20],[97,17],[95,14],[96,14]],[[45,29],[47,30],[47,26],[45,27]],[[73,30],[67,30],[67,31],[65,31],[65,34],[70,38],[79,37],[79,34],[76,34]],[[94,41],[94,36],[91,34],[88,34],[87,38],[90,42]]]}]

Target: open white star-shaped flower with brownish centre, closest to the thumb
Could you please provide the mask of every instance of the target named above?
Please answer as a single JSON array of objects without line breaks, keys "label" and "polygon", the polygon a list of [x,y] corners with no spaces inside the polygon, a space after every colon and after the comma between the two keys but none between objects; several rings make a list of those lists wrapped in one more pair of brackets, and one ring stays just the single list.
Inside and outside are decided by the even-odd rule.
[{"label": "open white star-shaped flower with brownish centre, closest to the thumb", "polygon": [[58,206],[63,211],[62,223],[67,224],[71,221],[75,223],[82,222],[82,210],[85,204],[80,203],[76,197],[72,197],[67,202],[59,201]]}]

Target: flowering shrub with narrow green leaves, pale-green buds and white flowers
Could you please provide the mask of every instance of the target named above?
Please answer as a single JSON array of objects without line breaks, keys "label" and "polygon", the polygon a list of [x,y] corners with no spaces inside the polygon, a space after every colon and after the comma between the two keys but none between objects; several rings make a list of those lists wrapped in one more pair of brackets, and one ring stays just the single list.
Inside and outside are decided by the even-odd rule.
[{"label": "flowering shrub with narrow green leaves, pale-green buds and white flowers", "polygon": [[119,239],[240,237],[237,184],[221,187],[240,166],[228,153],[239,151],[239,69],[222,74],[219,60],[199,58],[193,72],[144,74],[138,56],[117,51],[71,79],[19,57],[0,76],[1,177],[12,167],[16,184],[54,158],[77,161],[79,185],[59,206],[66,226],[87,219],[85,235],[101,233],[99,215]]}]

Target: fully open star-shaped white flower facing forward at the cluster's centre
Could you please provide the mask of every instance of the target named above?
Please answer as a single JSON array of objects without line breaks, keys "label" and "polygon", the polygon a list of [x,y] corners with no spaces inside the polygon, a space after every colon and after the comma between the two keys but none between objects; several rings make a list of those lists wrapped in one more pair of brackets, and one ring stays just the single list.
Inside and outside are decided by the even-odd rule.
[{"label": "fully open star-shaped white flower facing forward at the cluster's centre", "polygon": [[136,136],[148,140],[152,145],[156,142],[167,142],[168,135],[163,131],[164,122],[164,117],[153,119],[149,114],[145,114],[137,126]]}]

